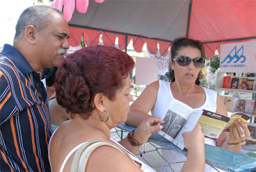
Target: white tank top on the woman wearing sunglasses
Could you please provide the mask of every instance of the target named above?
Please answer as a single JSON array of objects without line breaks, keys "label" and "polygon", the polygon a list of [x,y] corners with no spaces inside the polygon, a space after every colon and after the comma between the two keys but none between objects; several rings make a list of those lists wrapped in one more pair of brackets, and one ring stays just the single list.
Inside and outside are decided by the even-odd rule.
[{"label": "white tank top on the woman wearing sunglasses", "polygon": [[[206,97],[205,103],[201,107],[196,108],[194,110],[203,110],[204,109],[204,110],[216,112],[216,110],[217,110],[217,104],[216,104],[217,92],[215,92],[214,90],[205,89],[204,87],[202,87],[202,89],[204,89],[204,92],[205,92],[205,97]],[[156,104],[152,108],[151,114],[154,117],[164,118],[164,115],[166,114],[166,111],[168,110],[168,106],[173,99],[175,99],[175,98],[172,95],[170,83],[165,82],[163,80],[159,80],[159,89],[157,92]],[[205,143],[208,145],[216,146],[216,141],[211,140],[209,138],[205,138]],[[170,164],[173,171],[180,171],[184,162],[177,163],[177,164],[175,164],[175,162],[186,161],[186,159],[187,159],[186,156],[179,154],[177,152],[174,152],[172,150],[162,150],[162,152],[163,152],[164,158],[169,163],[173,163],[173,164]],[[168,167],[162,168],[162,171],[170,171],[170,168],[168,168]],[[211,166],[206,164],[205,171],[208,172],[208,171],[215,171],[215,170]]]}]

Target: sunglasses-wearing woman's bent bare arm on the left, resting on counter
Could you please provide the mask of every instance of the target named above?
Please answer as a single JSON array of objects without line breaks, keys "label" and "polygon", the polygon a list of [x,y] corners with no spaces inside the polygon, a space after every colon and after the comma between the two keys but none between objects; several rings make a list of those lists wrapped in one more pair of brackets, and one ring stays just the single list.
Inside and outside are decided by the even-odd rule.
[{"label": "sunglasses-wearing woman's bent bare arm on the left, resting on counter", "polygon": [[148,115],[148,112],[156,103],[158,89],[159,82],[156,81],[148,85],[146,89],[143,90],[140,97],[131,104],[125,124],[138,127],[143,120],[152,117],[151,115]]}]

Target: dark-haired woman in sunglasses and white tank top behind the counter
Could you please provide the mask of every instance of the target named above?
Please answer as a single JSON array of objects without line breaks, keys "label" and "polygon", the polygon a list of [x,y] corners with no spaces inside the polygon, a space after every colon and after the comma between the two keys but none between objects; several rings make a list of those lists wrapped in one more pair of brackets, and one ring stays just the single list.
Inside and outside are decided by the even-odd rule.
[{"label": "dark-haired woman in sunglasses and white tank top behind the counter", "polygon": [[[173,99],[187,104],[195,110],[209,110],[223,115],[227,115],[225,104],[214,90],[200,87],[200,70],[204,67],[204,48],[200,41],[188,38],[175,39],[172,46],[172,60],[170,61],[171,83],[162,80],[148,85],[140,97],[131,104],[127,121],[125,124],[138,126],[140,122],[149,117],[164,118],[166,111],[163,107],[170,104]],[[152,116],[148,115],[151,111]],[[215,141],[205,138],[205,143],[228,150],[239,152],[241,141],[250,136],[246,124],[238,120],[233,125],[230,133],[223,132]],[[162,168],[162,171],[180,171],[186,157],[171,150],[162,150],[164,158],[171,164],[171,168]],[[206,165],[205,171],[216,171],[211,166]]]}]

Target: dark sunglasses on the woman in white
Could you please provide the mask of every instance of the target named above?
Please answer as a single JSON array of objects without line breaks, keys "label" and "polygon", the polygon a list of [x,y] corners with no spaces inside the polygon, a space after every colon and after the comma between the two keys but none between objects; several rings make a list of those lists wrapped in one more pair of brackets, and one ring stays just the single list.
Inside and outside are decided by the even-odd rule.
[{"label": "dark sunglasses on the woman in white", "polygon": [[196,57],[195,59],[191,59],[185,55],[179,55],[176,57],[176,59],[172,59],[172,61],[176,61],[179,66],[189,66],[191,61],[193,61],[197,68],[202,68],[205,64],[205,59],[203,57]]}]

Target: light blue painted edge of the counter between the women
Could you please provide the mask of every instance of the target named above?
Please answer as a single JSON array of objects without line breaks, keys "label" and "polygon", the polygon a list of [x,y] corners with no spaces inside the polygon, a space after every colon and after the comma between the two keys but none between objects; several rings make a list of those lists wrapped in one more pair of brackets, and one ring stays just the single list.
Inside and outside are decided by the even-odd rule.
[{"label": "light blue painted edge of the counter between the women", "polygon": [[[118,128],[128,132],[132,129],[136,129],[136,127],[131,127],[125,124],[118,125]],[[175,152],[178,152],[180,154],[188,155],[188,152],[186,150],[180,150],[180,148],[175,146],[170,141],[166,140],[158,133],[152,134],[148,141],[156,143],[163,148],[174,150]],[[215,168],[223,169],[225,171],[256,171],[256,157],[240,154],[227,149],[214,147],[206,144],[205,161],[207,164]]]}]

